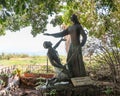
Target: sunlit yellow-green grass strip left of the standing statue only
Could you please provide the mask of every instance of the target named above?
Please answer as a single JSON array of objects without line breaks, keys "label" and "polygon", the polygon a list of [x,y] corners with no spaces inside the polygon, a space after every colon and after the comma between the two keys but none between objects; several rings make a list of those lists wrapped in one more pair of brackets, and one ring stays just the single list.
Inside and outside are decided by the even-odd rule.
[{"label": "sunlit yellow-green grass strip left of the standing statue only", "polygon": [[[62,63],[65,63],[65,56],[60,56]],[[49,60],[48,63],[50,64]],[[12,66],[12,65],[35,65],[35,64],[47,64],[46,56],[29,56],[26,58],[10,58],[10,59],[1,59],[0,65],[3,66]]]}]

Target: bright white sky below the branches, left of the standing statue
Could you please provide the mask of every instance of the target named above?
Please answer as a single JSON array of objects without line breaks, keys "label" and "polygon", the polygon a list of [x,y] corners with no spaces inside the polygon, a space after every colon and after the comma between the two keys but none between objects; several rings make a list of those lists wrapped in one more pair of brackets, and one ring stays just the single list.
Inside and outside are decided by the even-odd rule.
[{"label": "bright white sky below the branches, left of the standing statue", "polygon": [[[60,27],[47,25],[46,33],[56,33]],[[53,45],[60,39],[38,34],[31,35],[31,27],[26,27],[17,32],[6,31],[5,36],[0,36],[0,53],[26,53],[29,55],[46,55],[47,50],[43,48],[44,41],[51,41]],[[62,49],[62,50],[61,50]],[[66,55],[64,42],[57,48],[60,55]]]}]

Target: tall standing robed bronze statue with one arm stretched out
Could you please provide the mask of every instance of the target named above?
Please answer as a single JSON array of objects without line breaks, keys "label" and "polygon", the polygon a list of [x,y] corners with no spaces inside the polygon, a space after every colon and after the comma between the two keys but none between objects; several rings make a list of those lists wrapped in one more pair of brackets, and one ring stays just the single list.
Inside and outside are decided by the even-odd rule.
[{"label": "tall standing robed bronze statue with one arm stretched out", "polygon": [[[87,35],[81,24],[78,21],[78,18],[75,14],[71,16],[71,21],[73,22],[72,26],[69,26],[67,29],[59,33],[48,34],[44,33],[47,36],[54,37],[64,37],[70,35],[71,45],[69,52],[67,54],[67,64],[70,71],[71,77],[80,77],[86,76],[85,66],[82,56],[82,46],[86,43]],[[82,36],[82,41],[80,42],[80,35]]]}]

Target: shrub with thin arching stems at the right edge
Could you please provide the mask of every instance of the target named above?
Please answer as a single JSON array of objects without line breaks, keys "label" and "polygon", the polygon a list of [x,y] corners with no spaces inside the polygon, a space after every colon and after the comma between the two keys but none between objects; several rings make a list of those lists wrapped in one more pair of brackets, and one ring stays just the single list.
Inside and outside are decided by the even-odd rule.
[{"label": "shrub with thin arching stems at the right edge", "polygon": [[101,46],[102,53],[96,58],[100,65],[108,65],[109,72],[112,76],[112,81],[116,84],[119,81],[119,68],[120,68],[120,49],[115,47],[105,48]]}]

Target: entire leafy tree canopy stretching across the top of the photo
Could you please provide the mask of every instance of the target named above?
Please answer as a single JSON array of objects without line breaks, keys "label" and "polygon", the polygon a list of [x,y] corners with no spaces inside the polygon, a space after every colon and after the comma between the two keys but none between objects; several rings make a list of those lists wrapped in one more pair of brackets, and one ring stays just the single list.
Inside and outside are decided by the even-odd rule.
[{"label": "entire leafy tree canopy stretching across the top of the photo", "polygon": [[89,35],[120,41],[119,0],[0,0],[0,35],[32,26],[31,33],[36,36],[46,31],[49,15],[56,15],[51,21],[54,26],[70,25],[73,13]]}]

